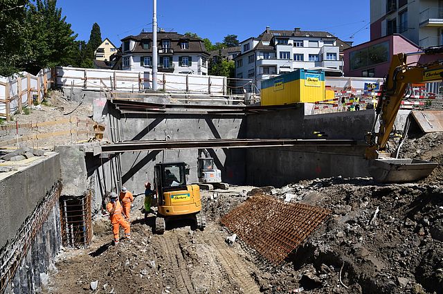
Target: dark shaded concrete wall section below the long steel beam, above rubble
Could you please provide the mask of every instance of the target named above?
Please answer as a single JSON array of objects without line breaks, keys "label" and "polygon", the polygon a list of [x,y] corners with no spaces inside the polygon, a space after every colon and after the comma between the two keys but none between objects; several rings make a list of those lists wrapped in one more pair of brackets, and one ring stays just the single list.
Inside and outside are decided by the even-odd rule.
[{"label": "dark shaded concrete wall section below the long steel beam, above rubble", "polygon": [[369,176],[364,151],[365,146],[248,149],[246,183],[281,187],[310,178]]}]

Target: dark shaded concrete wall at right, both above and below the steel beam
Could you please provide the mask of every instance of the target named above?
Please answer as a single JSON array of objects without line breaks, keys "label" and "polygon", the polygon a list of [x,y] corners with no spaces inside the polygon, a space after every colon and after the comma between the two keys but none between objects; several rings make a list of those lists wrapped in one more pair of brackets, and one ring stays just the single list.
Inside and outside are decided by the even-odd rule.
[{"label": "dark shaded concrete wall at right, both above and below the steel beam", "polygon": [[[248,185],[286,185],[310,178],[370,176],[364,136],[374,122],[374,111],[347,111],[305,116],[304,107],[249,115],[247,138],[318,138],[359,140],[359,147],[255,148],[246,151]],[[399,111],[395,125],[404,128],[409,111]]]}]

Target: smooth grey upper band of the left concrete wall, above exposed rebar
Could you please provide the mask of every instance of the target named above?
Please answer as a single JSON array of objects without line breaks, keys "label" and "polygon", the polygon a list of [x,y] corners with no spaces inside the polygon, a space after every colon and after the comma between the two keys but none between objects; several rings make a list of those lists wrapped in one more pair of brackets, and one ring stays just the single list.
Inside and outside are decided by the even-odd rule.
[{"label": "smooth grey upper band of the left concrete wall, above exposed rebar", "polygon": [[35,163],[0,180],[0,248],[12,240],[26,218],[35,210],[51,187],[60,180],[58,154]]}]

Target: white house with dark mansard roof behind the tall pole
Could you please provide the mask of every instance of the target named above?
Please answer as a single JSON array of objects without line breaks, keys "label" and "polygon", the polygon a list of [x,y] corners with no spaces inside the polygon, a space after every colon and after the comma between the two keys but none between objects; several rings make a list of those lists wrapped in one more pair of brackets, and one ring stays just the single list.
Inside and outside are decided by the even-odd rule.
[{"label": "white house with dark mansard roof behind the tall pole", "polygon": [[[152,71],[152,33],[130,35],[122,40],[121,68]],[[160,31],[157,33],[158,71],[208,75],[208,57],[201,39]]]}]

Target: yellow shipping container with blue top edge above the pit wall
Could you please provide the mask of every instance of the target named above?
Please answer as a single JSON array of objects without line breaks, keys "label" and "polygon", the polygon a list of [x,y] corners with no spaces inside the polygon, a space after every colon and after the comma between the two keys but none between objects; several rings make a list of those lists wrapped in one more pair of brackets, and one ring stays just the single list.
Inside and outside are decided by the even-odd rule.
[{"label": "yellow shipping container with blue top edge above the pit wall", "polygon": [[262,105],[325,100],[325,73],[298,69],[262,82]]}]

